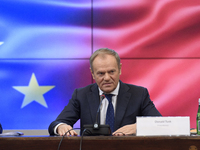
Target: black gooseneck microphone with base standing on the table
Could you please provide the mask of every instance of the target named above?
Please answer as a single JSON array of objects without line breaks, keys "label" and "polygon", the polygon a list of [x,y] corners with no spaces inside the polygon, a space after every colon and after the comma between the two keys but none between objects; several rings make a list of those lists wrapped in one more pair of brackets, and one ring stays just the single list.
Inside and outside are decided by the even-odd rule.
[{"label": "black gooseneck microphone with base standing on the table", "polygon": [[83,125],[84,128],[84,135],[111,135],[111,130],[110,130],[110,126],[108,124],[105,125],[100,125],[98,123],[98,114],[100,111],[100,107],[102,104],[103,99],[105,98],[105,94],[103,93],[101,95],[101,102],[99,104],[99,107],[97,109],[97,114],[96,114],[96,120],[94,124],[85,124]]}]

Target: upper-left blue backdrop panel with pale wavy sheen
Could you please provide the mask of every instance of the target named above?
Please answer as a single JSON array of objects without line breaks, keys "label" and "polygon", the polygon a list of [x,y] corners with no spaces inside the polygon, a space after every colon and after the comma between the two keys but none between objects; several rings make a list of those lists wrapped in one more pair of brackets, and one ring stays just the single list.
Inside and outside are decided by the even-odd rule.
[{"label": "upper-left blue backdrop panel with pale wavy sheen", "polygon": [[91,1],[1,0],[0,58],[88,58]]}]

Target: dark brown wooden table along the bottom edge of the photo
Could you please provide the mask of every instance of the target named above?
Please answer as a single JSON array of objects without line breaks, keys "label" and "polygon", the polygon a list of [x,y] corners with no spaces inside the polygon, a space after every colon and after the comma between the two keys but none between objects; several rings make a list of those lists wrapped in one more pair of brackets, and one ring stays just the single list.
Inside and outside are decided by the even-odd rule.
[{"label": "dark brown wooden table along the bottom edge of the photo", "polygon": [[[0,137],[0,150],[57,150],[62,137]],[[79,150],[81,137],[64,137],[60,150]],[[84,136],[82,150],[200,150],[200,136]]]}]

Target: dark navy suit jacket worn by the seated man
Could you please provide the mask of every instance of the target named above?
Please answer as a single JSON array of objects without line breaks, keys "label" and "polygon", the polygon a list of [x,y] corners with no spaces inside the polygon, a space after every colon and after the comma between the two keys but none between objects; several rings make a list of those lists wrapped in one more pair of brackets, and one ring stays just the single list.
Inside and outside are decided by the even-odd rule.
[{"label": "dark navy suit jacket worn by the seated man", "polygon": [[[80,119],[81,128],[84,124],[94,124],[99,104],[99,90],[96,83],[75,89],[68,105],[65,106],[57,119],[50,124],[50,135],[54,135],[54,127],[59,123],[73,126]],[[115,130],[124,125],[136,123],[136,116],[161,116],[161,114],[150,100],[146,88],[120,81],[115,114]]]}]

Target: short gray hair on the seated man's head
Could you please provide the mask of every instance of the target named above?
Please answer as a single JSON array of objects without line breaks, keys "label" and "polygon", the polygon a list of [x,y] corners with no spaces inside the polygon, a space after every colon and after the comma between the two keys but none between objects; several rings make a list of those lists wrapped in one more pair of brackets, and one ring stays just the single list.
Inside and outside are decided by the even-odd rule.
[{"label": "short gray hair on the seated man's head", "polygon": [[98,55],[105,55],[105,54],[114,56],[117,61],[118,68],[120,69],[120,57],[119,57],[118,53],[109,48],[100,48],[100,49],[96,50],[90,57],[90,68],[91,68],[92,72],[93,72],[92,63],[93,63],[94,59]]}]

